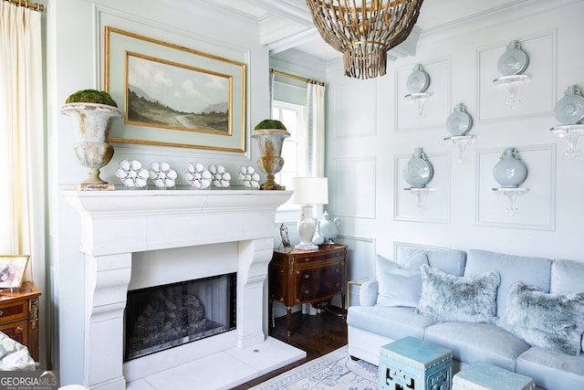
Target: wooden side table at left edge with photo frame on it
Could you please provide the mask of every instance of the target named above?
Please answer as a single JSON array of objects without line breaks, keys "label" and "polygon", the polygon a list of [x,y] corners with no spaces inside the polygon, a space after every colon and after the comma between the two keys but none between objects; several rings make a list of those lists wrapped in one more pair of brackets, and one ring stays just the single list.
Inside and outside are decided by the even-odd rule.
[{"label": "wooden side table at left edge with photo frame on it", "polygon": [[40,291],[31,281],[20,289],[0,290],[0,331],[26,345],[38,362],[38,297]]}]

